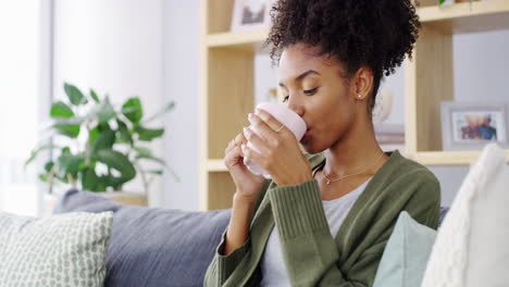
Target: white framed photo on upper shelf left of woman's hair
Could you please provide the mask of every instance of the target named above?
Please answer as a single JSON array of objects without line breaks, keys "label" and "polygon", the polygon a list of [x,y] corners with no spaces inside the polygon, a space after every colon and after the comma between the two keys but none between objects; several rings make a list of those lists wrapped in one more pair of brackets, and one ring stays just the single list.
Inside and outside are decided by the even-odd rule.
[{"label": "white framed photo on upper shelf left of woman's hair", "polygon": [[269,28],[275,0],[235,0],[232,32]]}]

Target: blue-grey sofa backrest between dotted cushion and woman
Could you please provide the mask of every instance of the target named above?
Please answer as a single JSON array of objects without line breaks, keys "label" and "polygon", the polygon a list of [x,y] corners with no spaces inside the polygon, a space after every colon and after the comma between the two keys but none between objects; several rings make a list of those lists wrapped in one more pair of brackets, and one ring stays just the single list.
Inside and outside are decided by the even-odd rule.
[{"label": "blue-grey sofa backrest between dotted cushion and woman", "polygon": [[231,210],[190,212],[123,205],[70,190],[54,212],[113,211],[105,286],[203,286]]}]

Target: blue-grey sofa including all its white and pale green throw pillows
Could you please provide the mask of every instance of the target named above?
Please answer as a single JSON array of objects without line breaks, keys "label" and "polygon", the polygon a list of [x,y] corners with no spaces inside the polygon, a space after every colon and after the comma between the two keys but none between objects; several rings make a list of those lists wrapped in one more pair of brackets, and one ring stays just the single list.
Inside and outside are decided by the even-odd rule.
[{"label": "blue-grey sofa including all its white and pale green throw pillows", "polygon": [[[401,212],[373,287],[509,286],[509,165],[483,149],[438,230]],[[0,212],[0,287],[202,286],[231,210],[125,205],[69,190],[52,216]]]}]

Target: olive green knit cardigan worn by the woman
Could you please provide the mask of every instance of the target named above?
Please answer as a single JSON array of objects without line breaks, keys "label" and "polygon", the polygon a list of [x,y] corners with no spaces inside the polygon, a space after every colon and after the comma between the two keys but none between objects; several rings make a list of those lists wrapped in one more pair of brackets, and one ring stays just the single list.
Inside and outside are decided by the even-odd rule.
[{"label": "olive green knit cardigan worn by the woman", "polygon": [[[260,259],[274,226],[291,286],[372,286],[399,213],[405,210],[419,223],[436,229],[440,207],[440,187],[433,173],[397,150],[387,155],[335,237],[316,179],[282,187],[265,180],[248,239],[222,255],[224,230],[204,286],[259,286]],[[306,157],[313,170],[325,160],[324,152]]]}]

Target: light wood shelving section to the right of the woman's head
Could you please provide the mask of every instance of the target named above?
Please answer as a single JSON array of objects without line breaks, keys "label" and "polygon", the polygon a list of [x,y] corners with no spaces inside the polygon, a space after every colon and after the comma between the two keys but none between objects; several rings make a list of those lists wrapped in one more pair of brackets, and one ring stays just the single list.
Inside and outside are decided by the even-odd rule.
[{"label": "light wood shelving section to the right of the woman's head", "polygon": [[[452,36],[509,28],[509,1],[474,1],[419,9],[422,30],[405,63],[406,150],[425,165],[465,165],[480,151],[443,151],[440,102],[452,99]],[[506,152],[509,159],[509,151]]]}]

